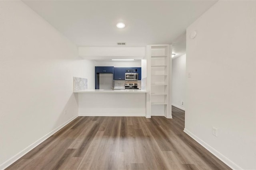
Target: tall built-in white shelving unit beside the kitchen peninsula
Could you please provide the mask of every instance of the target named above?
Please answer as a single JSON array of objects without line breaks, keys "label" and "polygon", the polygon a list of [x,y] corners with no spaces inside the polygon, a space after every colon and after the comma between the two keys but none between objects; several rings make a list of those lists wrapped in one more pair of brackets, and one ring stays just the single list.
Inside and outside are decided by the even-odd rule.
[{"label": "tall built-in white shelving unit beside the kitchen peninsula", "polygon": [[172,118],[170,104],[171,45],[147,46],[147,89],[150,91],[150,115]]}]

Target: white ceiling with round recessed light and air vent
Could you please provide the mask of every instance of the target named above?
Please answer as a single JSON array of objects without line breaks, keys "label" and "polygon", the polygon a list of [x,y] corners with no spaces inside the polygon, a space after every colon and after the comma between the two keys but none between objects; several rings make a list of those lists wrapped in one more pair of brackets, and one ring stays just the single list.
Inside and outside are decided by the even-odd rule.
[{"label": "white ceiling with round recessed light and air vent", "polygon": [[[211,0],[23,2],[76,45],[90,47],[116,47],[117,42],[126,42],[126,47],[172,44],[216,3]],[[116,28],[119,21],[126,24],[124,29]]]}]

